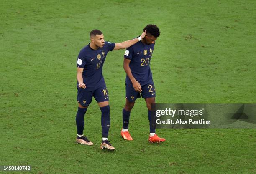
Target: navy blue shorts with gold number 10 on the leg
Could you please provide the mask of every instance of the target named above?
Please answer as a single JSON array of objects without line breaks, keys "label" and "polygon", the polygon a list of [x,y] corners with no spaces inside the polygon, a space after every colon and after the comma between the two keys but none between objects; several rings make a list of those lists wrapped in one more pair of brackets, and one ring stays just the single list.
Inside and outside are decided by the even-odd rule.
[{"label": "navy blue shorts with gold number 10 on the leg", "polygon": [[89,106],[89,104],[92,103],[92,96],[95,98],[97,103],[108,101],[108,89],[106,84],[94,91],[87,91],[85,89],[77,88],[77,102],[82,106]]}]

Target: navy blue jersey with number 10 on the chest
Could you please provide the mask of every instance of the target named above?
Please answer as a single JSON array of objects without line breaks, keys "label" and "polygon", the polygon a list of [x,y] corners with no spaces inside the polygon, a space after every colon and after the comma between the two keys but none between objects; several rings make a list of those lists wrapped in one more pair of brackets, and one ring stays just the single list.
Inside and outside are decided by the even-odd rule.
[{"label": "navy blue jersey with number 10 on the chest", "polygon": [[84,68],[82,73],[85,90],[93,91],[105,85],[102,76],[102,67],[109,51],[115,48],[115,43],[105,42],[102,48],[94,50],[88,44],[80,51],[77,57],[77,67]]}]

